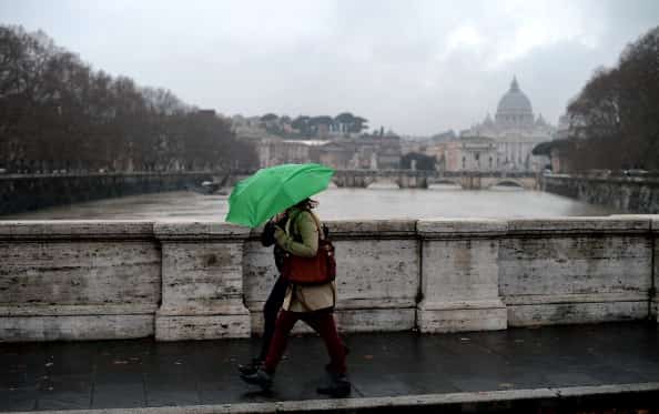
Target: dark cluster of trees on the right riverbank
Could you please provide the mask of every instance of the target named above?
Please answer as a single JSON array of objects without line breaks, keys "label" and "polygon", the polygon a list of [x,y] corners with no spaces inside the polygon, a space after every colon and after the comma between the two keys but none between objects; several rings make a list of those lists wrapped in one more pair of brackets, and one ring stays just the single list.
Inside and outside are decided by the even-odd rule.
[{"label": "dark cluster of trees on the right riverbank", "polygon": [[659,169],[659,27],[597,70],[568,117],[559,150],[571,169]]}]

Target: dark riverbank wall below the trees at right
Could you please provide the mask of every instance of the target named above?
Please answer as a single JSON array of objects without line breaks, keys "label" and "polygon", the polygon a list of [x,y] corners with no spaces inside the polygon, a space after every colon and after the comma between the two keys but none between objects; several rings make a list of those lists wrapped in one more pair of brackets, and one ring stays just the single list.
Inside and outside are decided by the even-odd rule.
[{"label": "dark riverbank wall below the trees at right", "polygon": [[656,175],[569,175],[540,176],[543,191],[606,205],[622,213],[659,213],[659,176]]}]

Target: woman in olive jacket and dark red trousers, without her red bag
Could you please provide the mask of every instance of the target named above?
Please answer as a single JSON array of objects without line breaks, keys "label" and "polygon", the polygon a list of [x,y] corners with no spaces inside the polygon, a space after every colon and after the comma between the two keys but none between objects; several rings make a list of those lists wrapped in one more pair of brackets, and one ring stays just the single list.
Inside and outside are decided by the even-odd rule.
[{"label": "woman in olive jacket and dark red trousers, without her red bag", "polygon": [[[288,254],[300,258],[316,256],[318,240],[324,238],[321,222],[311,211],[316,205],[317,203],[310,199],[301,201],[286,210],[288,220],[284,228],[275,226],[276,244]],[[335,305],[334,281],[314,285],[288,283],[265,362],[255,372],[241,374],[241,378],[263,390],[270,388],[277,364],[286,349],[288,334],[295,323],[302,320],[321,335],[330,354],[330,363],[325,367],[330,375],[330,383],[318,387],[317,392],[337,397],[348,395],[351,383],[346,377],[346,349],[336,331]]]}]

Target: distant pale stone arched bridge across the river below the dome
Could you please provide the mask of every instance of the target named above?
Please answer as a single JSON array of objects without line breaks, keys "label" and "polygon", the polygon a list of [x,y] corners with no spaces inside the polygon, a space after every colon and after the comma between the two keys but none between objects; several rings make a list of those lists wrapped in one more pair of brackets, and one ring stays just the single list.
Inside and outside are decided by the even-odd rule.
[{"label": "distant pale stone arched bridge across the river below the dome", "polygon": [[336,170],[332,181],[338,188],[394,184],[401,189],[427,189],[433,184],[452,184],[465,190],[486,190],[495,185],[539,189],[536,173],[509,171]]}]

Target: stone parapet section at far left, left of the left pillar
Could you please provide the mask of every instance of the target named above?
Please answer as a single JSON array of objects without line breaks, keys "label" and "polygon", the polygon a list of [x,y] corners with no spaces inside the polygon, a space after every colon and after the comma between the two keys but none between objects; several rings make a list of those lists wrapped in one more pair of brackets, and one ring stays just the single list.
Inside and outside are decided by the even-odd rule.
[{"label": "stone parapet section at far left, left of the left pillar", "polygon": [[0,342],[153,335],[160,267],[152,222],[0,222]]}]

